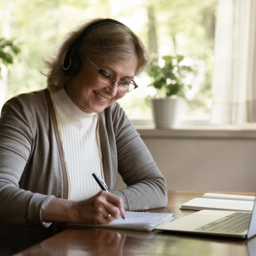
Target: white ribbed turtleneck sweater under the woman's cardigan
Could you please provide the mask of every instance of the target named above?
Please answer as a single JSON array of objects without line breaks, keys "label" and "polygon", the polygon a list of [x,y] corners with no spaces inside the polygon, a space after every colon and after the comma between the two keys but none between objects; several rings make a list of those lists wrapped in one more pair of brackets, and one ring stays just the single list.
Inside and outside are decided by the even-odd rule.
[{"label": "white ribbed turtleneck sweater under the woman's cardigan", "polygon": [[64,88],[51,91],[68,175],[68,199],[85,200],[101,188],[92,173],[104,180],[97,113],[78,108]]}]

